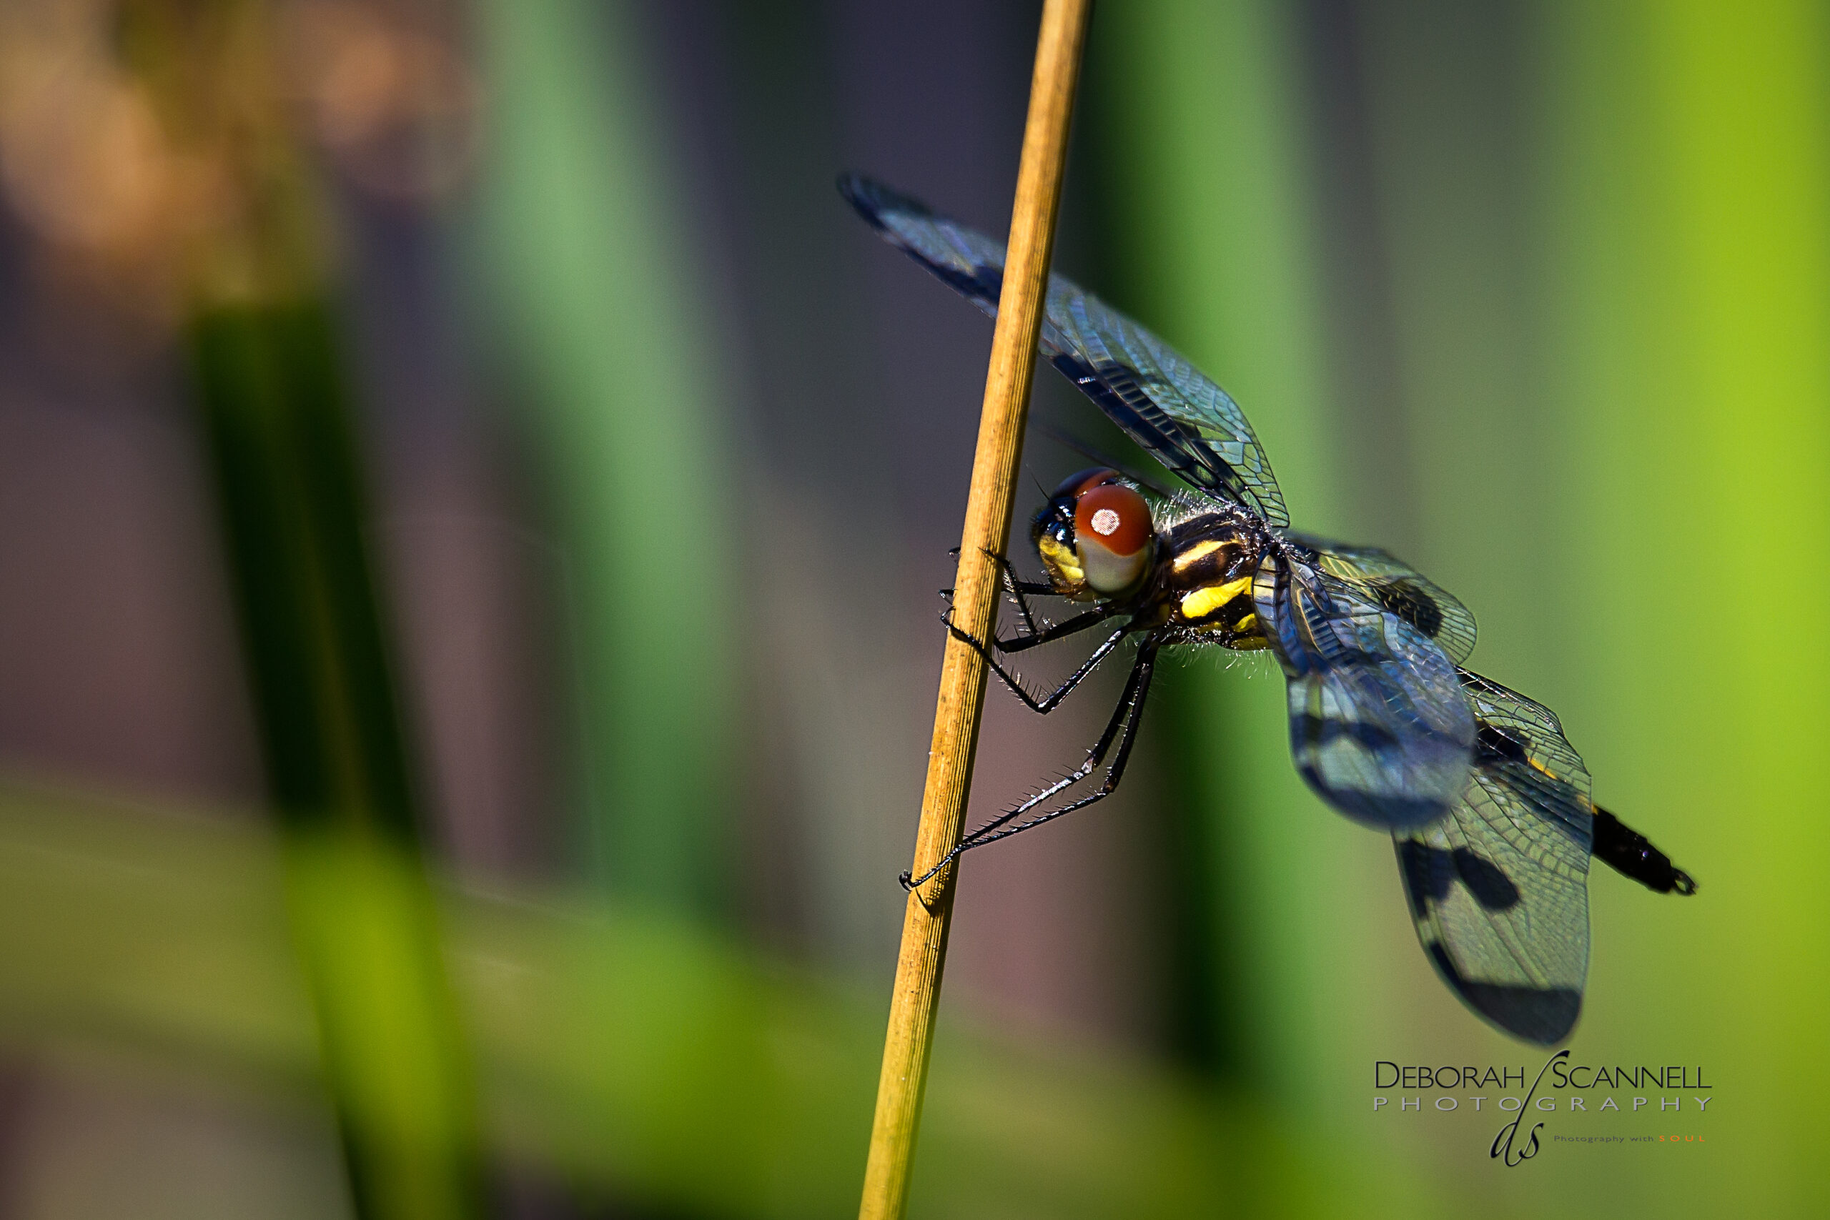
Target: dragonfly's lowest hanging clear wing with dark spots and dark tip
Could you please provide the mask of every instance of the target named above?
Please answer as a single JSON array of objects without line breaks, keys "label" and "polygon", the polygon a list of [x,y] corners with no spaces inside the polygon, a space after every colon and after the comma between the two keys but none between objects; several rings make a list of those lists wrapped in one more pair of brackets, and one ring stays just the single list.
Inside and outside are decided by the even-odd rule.
[{"label": "dragonfly's lowest hanging clear wing with dark spots and dark tip", "polygon": [[1548,708],[1457,669],[1475,713],[1473,776],[1449,816],[1393,832],[1416,938],[1471,1010],[1563,1041],[1588,973],[1588,772]]}]

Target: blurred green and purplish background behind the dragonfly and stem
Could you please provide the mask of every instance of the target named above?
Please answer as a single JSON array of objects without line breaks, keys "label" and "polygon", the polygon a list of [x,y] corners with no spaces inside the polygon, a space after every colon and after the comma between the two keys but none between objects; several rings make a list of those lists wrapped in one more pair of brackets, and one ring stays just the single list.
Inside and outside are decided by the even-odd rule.
[{"label": "blurred green and purplish background behind the dragonfly and stem", "polygon": [[[990,327],[831,183],[1001,232],[1038,13],[0,7],[0,1216],[855,1211]],[[1698,878],[1570,1046],[1715,1101],[1374,1112],[1545,1055],[1200,657],[966,861],[911,1215],[1830,1213],[1826,97],[1825,5],[1100,5],[1058,267]]]}]

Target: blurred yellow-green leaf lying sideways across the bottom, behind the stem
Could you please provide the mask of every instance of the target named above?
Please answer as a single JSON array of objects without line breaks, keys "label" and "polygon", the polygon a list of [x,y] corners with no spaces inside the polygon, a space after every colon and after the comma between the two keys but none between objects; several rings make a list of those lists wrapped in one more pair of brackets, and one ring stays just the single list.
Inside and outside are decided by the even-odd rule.
[{"label": "blurred yellow-green leaf lying sideways across the bottom, behind the stem", "polygon": [[[0,788],[0,1037],[51,1061],[135,1050],[256,1099],[311,1097],[285,867],[280,840],[251,821]],[[337,887],[351,918],[399,893],[375,860],[339,867]],[[602,900],[445,891],[441,905],[498,1158],[688,1215],[855,1211],[875,988]],[[377,1002],[397,986],[379,982]],[[915,1215],[1190,1216],[1233,1200],[1294,1216],[1314,1204],[1308,1154],[1239,1101],[1144,1065],[942,1026]]]}]

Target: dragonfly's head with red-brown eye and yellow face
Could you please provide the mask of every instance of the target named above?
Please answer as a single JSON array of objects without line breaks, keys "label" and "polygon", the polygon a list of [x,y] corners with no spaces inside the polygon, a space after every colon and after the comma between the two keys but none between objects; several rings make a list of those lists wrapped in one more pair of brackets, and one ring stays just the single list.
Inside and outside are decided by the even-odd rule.
[{"label": "dragonfly's head with red-brown eye and yellow face", "polygon": [[1149,503],[1100,466],[1061,479],[1030,521],[1030,540],[1054,587],[1080,602],[1136,589],[1157,551]]}]

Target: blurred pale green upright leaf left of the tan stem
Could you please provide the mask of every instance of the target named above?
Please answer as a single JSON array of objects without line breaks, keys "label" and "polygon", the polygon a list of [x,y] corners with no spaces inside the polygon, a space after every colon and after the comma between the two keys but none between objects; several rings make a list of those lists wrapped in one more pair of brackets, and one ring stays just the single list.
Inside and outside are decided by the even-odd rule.
[{"label": "blurred pale green upright leaf left of the tan stem", "polygon": [[490,342],[533,408],[565,552],[584,757],[576,858],[723,915],[745,615],[714,329],[628,5],[478,5],[492,155],[474,230]]}]

